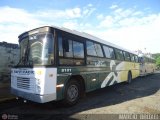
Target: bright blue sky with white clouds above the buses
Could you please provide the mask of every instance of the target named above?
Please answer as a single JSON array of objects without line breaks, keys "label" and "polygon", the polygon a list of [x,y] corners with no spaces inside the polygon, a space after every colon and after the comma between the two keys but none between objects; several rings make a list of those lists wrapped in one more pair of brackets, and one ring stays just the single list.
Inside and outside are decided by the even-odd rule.
[{"label": "bright blue sky with white clouds above the buses", "polygon": [[160,53],[159,0],[0,0],[0,42],[53,25],[86,32],[131,51]]}]

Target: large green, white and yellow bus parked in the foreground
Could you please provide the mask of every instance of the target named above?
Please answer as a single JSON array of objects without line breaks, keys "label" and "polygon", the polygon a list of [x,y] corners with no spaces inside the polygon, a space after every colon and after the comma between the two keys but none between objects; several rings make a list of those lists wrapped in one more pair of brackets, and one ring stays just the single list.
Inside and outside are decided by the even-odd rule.
[{"label": "large green, white and yellow bus parked in the foreground", "polygon": [[43,26],[19,35],[19,45],[11,93],[25,100],[71,106],[86,92],[140,74],[138,55],[84,32]]}]

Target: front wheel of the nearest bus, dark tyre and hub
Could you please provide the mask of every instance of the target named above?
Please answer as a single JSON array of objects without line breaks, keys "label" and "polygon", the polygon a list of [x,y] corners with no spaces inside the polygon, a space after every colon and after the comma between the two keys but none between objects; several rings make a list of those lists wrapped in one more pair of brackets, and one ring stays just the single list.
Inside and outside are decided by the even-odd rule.
[{"label": "front wheel of the nearest bus, dark tyre and hub", "polygon": [[80,84],[76,80],[70,80],[67,83],[64,96],[64,104],[66,106],[75,105],[80,98]]}]

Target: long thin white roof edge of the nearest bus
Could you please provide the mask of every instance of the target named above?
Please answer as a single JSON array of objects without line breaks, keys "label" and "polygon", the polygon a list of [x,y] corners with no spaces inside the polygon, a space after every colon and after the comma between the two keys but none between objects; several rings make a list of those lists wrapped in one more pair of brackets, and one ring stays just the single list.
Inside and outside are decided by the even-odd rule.
[{"label": "long thin white roof edge of the nearest bus", "polygon": [[[55,29],[58,29],[58,30],[61,30],[61,31],[64,31],[64,32],[68,32],[68,33],[71,33],[71,34],[74,34],[74,35],[77,35],[77,36],[80,36],[80,37],[83,37],[83,38],[87,38],[87,39],[89,39],[89,40],[93,40],[93,41],[96,41],[96,42],[99,42],[99,43],[103,43],[103,44],[106,44],[106,45],[108,45],[108,46],[111,46],[111,47],[114,47],[114,48],[117,48],[117,49],[120,49],[120,50],[123,50],[123,51],[126,51],[126,52],[129,52],[129,53],[132,53],[132,54],[137,55],[136,52],[127,50],[127,49],[125,49],[125,48],[123,48],[123,47],[120,47],[120,46],[118,46],[118,45],[115,45],[115,44],[113,44],[113,43],[111,43],[111,42],[108,42],[108,41],[106,41],[106,40],[100,39],[100,38],[98,38],[98,37],[96,37],[96,36],[90,35],[90,34],[85,33],[85,32],[79,32],[79,31],[76,31],[76,30],[71,30],[71,29],[68,29],[68,28],[57,27],[57,26],[43,26],[43,27],[52,27],[52,28],[55,28]],[[39,27],[39,28],[43,28],[43,27]],[[33,29],[33,30],[30,30],[30,31],[34,31],[34,30],[37,30],[37,29],[39,29],[39,28],[35,28],[35,29]],[[30,31],[28,31],[28,32],[30,32]],[[27,32],[24,32],[24,33],[22,33],[21,35],[23,35],[23,34],[25,34],[25,33],[27,33]],[[21,35],[20,35],[20,36],[21,36]],[[19,37],[20,37],[20,36],[19,36]]]}]

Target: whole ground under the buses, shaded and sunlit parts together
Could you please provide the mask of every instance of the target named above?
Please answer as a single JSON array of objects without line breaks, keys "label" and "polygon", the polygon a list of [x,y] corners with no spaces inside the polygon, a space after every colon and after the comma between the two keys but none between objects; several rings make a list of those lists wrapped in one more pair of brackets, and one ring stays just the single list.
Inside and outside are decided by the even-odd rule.
[{"label": "whole ground under the buses, shaded and sunlit parts together", "polygon": [[157,120],[160,119],[160,72],[136,78],[131,84],[120,83],[87,93],[73,107],[65,108],[60,102],[38,104],[14,99],[0,103],[0,113],[26,120],[102,120],[120,119],[119,114],[154,114],[158,115]]}]

